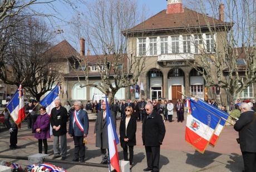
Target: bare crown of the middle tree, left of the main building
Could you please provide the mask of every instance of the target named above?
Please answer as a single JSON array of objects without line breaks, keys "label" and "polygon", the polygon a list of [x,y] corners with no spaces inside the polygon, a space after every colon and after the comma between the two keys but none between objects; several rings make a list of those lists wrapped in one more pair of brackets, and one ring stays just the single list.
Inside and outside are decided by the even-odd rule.
[{"label": "bare crown of the middle tree, left of the main building", "polygon": [[[80,54],[80,65],[85,64],[85,84],[96,87],[106,94],[110,102],[120,88],[135,85],[145,67],[144,57],[127,57],[127,47],[136,44],[127,42],[126,30],[141,22],[142,12],[137,9],[136,1],[107,0],[86,4],[86,11],[76,17],[73,25],[76,36],[85,37],[88,49],[95,54],[96,65],[101,77],[101,84],[90,84],[90,60]],[[127,65],[126,65],[127,64]],[[78,77],[79,82],[81,81]]]}]

